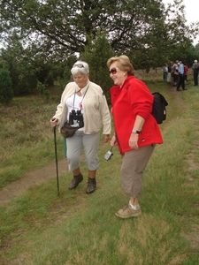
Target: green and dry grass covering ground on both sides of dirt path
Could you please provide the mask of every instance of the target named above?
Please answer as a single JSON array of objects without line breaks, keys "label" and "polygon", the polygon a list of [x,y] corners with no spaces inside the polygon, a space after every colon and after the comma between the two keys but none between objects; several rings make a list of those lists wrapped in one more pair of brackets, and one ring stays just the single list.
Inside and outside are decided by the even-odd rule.
[{"label": "green and dry grass covering ground on both sides of dirt path", "polygon": [[[142,216],[114,216],[128,198],[120,186],[119,152],[113,148],[111,161],[104,161],[110,146],[101,138],[96,193],[85,193],[86,178],[68,191],[67,173],[60,176],[59,196],[50,179],[0,207],[1,265],[198,264],[199,93],[191,84],[180,93],[159,81],[147,84],[169,106],[160,125],[165,143],[157,146],[143,176]],[[47,104],[26,97],[1,108],[1,186],[54,161],[50,117],[56,105],[57,99]],[[59,135],[57,148],[64,157]],[[83,161],[81,168],[86,177]]]}]

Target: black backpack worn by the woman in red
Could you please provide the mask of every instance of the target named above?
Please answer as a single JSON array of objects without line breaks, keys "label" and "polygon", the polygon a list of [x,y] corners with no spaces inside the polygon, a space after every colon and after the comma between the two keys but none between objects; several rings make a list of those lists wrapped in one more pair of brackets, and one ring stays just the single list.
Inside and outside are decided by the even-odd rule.
[{"label": "black backpack worn by the woman in red", "polygon": [[166,119],[166,106],[168,102],[165,100],[165,96],[158,92],[152,93],[154,96],[153,109],[151,114],[156,118],[157,124],[160,125]]}]

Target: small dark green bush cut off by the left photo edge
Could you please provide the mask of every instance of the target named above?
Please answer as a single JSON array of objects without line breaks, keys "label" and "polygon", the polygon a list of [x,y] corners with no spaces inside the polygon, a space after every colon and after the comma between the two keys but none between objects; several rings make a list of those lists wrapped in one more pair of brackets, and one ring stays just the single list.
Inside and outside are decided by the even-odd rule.
[{"label": "small dark green bush cut off by the left photo edge", "polygon": [[0,103],[8,104],[11,102],[12,96],[10,72],[0,68]]}]

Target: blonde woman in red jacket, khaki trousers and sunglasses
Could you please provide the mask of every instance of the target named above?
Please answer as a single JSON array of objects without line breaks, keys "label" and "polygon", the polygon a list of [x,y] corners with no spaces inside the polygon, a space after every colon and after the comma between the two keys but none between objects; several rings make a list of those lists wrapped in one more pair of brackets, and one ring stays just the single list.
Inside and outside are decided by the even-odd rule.
[{"label": "blonde woman in red jacket, khaki trousers and sunglasses", "polygon": [[163,139],[156,119],[151,115],[153,95],[139,79],[134,78],[134,67],[126,56],[111,57],[107,61],[111,87],[112,116],[115,133],[111,147],[119,146],[123,156],[120,178],[124,192],[130,196],[125,208],[116,216],[140,216],[138,198],[142,193],[142,174],[156,144]]}]

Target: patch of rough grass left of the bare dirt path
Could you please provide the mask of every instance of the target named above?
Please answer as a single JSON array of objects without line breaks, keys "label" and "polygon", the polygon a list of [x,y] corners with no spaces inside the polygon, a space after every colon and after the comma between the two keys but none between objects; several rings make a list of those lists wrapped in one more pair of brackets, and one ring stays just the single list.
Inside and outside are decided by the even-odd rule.
[{"label": "patch of rough grass left of the bare dirt path", "polygon": [[[11,106],[0,107],[0,187],[21,178],[35,165],[53,160],[50,117],[55,110],[55,102],[46,103],[35,96],[15,98]],[[58,143],[61,140],[58,137]],[[60,151],[61,145],[58,147]]]}]

